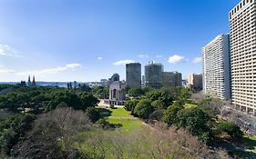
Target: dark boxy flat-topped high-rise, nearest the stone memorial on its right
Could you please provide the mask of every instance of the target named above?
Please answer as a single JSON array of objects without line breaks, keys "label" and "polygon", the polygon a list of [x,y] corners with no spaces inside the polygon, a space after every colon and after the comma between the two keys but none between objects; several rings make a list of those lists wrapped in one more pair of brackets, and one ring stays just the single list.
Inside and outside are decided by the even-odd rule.
[{"label": "dark boxy flat-topped high-rise, nearest the stone memorial on its right", "polygon": [[141,65],[139,63],[130,63],[126,65],[127,86],[141,87]]}]

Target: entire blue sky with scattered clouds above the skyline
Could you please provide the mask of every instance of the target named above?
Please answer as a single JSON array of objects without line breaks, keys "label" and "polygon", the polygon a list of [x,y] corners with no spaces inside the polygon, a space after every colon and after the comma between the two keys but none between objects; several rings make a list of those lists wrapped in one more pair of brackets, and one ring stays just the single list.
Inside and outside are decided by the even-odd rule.
[{"label": "entire blue sky with scattered clouds above the skyline", "polygon": [[201,47],[229,32],[239,2],[0,0],[0,81],[125,79],[132,61],[156,61],[186,79],[201,72]]}]

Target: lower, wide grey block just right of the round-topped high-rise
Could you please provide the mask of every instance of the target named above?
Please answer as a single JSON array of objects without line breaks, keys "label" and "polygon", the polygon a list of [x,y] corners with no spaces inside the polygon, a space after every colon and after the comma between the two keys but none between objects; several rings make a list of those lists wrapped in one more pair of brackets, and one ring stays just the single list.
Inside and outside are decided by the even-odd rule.
[{"label": "lower, wide grey block just right of the round-topped high-rise", "polygon": [[163,87],[182,86],[182,75],[178,72],[163,72],[162,86]]}]

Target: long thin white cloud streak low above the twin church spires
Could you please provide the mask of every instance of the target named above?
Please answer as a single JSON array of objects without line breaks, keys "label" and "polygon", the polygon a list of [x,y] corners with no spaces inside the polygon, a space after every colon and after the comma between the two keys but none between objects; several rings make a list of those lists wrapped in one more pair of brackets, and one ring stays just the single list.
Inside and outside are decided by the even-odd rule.
[{"label": "long thin white cloud streak low above the twin church spires", "polygon": [[57,74],[59,72],[67,71],[70,69],[80,68],[82,65],[80,64],[67,64],[65,66],[58,66],[56,68],[48,68],[44,70],[37,71],[27,71],[22,73],[17,73],[17,75],[49,75],[49,74]]}]

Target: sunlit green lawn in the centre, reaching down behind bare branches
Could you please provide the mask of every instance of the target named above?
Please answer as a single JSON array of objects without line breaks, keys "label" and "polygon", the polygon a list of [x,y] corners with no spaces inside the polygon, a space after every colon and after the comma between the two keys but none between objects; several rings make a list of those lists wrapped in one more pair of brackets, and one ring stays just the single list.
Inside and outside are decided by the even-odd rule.
[{"label": "sunlit green lawn in the centre, reaching down behind bare branches", "polygon": [[[138,118],[133,117],[127,110],[125,110],[122,107],[118,107],[115,109],[105,109],[97,107],[101,112],[104,112],[105,114],[102,115],[102,117],[105,117],[110,124],[121,124],[122,126],[120,128],[116,128],[114,131],[104,131],[104,130],[91,130],[87,132],[81,132],[79,133],[79,138],[81,139],[81,148],[84,152],[87,152],[89,154],[101,154],[102,149],[99,149],[100,147],[108,147],[108,153],[106,154],[106,158],[116,158],[115,154],[113,152],[116,152],[114,149],[114,146],[112,145],[111,141],[109,141],[109,137],[115,137],[116,135],[130,135],[132,134],[133,130],[139,129],[143,126],[142,121]],[[96,150],[93,150],[91,147],[93,147],[91,144],[97,144],[97,136],[108,136],[107,138],[103,137],[102,145],[103,146],[97,146]],[[93,140],[90,141],[91,137],[96,137]],[[101,139],[98,137],[99,140]],[[77,146],[79,146],[77,144]],[[128,150],[123,150],[124,154],[128,152]]]}]

